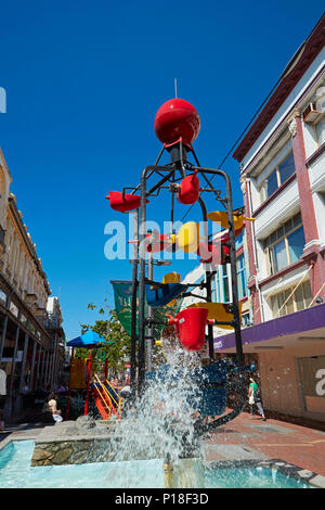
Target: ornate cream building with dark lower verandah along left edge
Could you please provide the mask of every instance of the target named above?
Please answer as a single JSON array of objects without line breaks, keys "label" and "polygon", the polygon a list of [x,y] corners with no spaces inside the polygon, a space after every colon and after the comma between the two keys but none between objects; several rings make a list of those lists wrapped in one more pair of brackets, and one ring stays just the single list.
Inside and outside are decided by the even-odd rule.
[{"label": "ornate cream building with dark lower verandah along left edge", "polygon": [[6,375],[6,417],[21,410],[26,385],[35,392],[57,382],[65,355],[58,301],[50,297],[11,182],[0,150],[0,368]]}]

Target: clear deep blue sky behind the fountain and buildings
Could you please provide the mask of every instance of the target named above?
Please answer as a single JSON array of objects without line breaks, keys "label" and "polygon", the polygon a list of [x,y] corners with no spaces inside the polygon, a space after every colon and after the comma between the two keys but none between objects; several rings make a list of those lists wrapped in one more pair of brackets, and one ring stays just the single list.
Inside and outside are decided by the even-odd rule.
[{"label": "clear deep blue sky behind the fountain and buildings", "polygon": [[[129,262],[107,260],[109,190],[134,186],[153,164],[159,106],[178,95],[199,112],[195,150],[217,167],[323,14],[323,2],[11,1],[1,5],[0,146],[67,337],[114,306],[109,280],[131,278]],[[168,160],[164,160],[165,163]],[[242,204],[237,163],[223,169]],[[217,179],[216,179],[217,183]],[[166,202],[166,200],[168,202]],[[150,219],[169,219],[169,199]],[[216,209],[216,202],[209,202]],[[185,209],[177,208],[177,218]],[[121,217],[123,216],[123,217]],[[197,206],[186,220],[199,220]],[[182,277],[195,262],[176,263]],[[157,269],[161,278],[164,269]]]}]

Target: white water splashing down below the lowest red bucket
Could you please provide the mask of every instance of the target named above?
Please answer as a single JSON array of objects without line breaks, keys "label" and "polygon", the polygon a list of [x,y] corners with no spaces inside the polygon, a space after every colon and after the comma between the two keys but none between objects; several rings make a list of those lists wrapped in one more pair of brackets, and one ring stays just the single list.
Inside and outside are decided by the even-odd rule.
[{"label": "white water splashing down below the lowest red bucket", "polygon": [[116,426],[114,460],[197,457],[195,421],[200,359],[194,352],[166,349],[168,365],[148,373],[142,395]]}]

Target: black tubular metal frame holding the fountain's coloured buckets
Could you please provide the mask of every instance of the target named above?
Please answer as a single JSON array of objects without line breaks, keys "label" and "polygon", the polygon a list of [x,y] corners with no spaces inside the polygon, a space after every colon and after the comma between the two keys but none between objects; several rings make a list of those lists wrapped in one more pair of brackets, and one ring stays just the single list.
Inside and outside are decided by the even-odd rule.
[{"label": "black tubular metal frame holding the fountain's coloured buckets", "polygon": [[[240,333],[240,315],[239,315],[239,306],[238,306],[238,289],[237,289],[237,275],[236,275],[236,250],[235,250],[235,229],[234,229],[234,211],[233,211],[233,199],[232,199],[232,184],[230,176],[217,168],[205,168],[200,167],[197,161],[196,154],[191,146],[191,152],[194,155],[196,161],[196,165],[193,165],[186,160],[186,148],[182,144],[182,142],[178,142],[173,144],[171,148],[168,148],[168,152],[170,153],[171,163],[165,166],[158,165],[159,160],[162,155],[162,152],[166,148],[162,146],[159,156],[154,165],[150,165],[145,167],[141,174],[140,184],[135,188],[125,188],[123,193],[127,189],[132,189],[132,194],[140,190],[141,192],[141,206],[140,206],[140,218],[139,218],[139,211],[136,209],[134,213],[134,240],[138,241],[134,244],[134,254],[133,254],[133,271],[132,271],[132,331],[131,331],[131,388],[133,394],[135,394],[135,386],[136,386],[136,340],[138,340],[138,393],[141,394],[143,390],[143,385],[145,382],[145,340],[146,340],[146,328],[152,326],[153,319],[145,318],[145,283],[150,281],[150,279],[145,275],[145,250],[143,248],[143,241],[145,240],[146,235],[146,200],[150,196],[157,195],[160,190],[169,189],[169,191],[174,192],[174,186],[178,180],[183,179],[186,177],[186,170],[190,171],[197,171],[197,175],[203,176],[205,179],[208,188],[202,190],[202,192],[213,192],[216,194],[216,199],[222,203],[224,206],[226,214],[227,214],[227,221],[229,221],[229,246],[230,246],[230,265],[231,265],[231,282],[232,282],[232,313],[234,315],[234,319],[231,322],[218,322],[214,321],[216,324],[227,324],[232,326],[235,331],[235,339],[236,339],[236,356],[237,356],[237,367],[238,367],[238,378],[239,378],[239,400],[236,408],[229,412],[225,416],[220,417],[219,419],[214,420],[213,422],[206,424],[204,421],[197,422],[197,433],[200,435],[205,432],[216,429],[221,424],[232,420],[235,418],[243,409],[245,403],[244,396],[244,378],[243,378],[243,345],[242,345],[242,333]],[[159,176],[159,180],[154,183],[150,189],[147,189],[148,179],[153,176]],[[212,187],[211,180],[209,177],[219,176],[225,182],[225,197],[221,196],[221,191],[217,190]],[[169,186],[165,186],[169,183]],[[205,202],[202,197],[202,193],[198,197],[198,204],[200,205],[202,213],[203,213],[203,220],[205,225],[205,239],[208,243],[209,234],[208,234],[208,220],[207,220],[207,209]],[[173,222],[173,200],[172,200],[172,208],[171,208],[171,216]],[[140,219],[140,225],[139,225]],[[208,265],[207,265],[208,267]],[[139,278],[138,278],[138,269],[139,269]],[[205,288],[207,292],[207,301],[211,301],[211,278],[214,275],[210,268],[206,269],[206,280],[205,283],[200,283],[199,286]],[[191,286],[191,284],[190,284]],[[197,285],[193,285],[197,286]],[[139,297],[138,295],[139,290]],[[139,335],[136,335],[136,301],[139,299]],[[167,326],[167,321],[166,321]],[[208,335],[207,342],[209,347],[209,359],[210,364],[213,362],[213,327],[210,324],[208,326]],[[242,378],[242,382],[240,382]],[[245,391],[246,392],[246,391]]]}]

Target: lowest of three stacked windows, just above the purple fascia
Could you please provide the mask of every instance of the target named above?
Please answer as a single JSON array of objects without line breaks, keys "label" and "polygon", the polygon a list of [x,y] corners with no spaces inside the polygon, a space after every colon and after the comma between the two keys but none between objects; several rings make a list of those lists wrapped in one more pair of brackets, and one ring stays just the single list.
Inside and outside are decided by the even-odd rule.
[{"label": "lowest of three stacked windows, just above the purple fascia", "polygon": [[312,302],[312,293],[309,280],[295,286],[278,292],[271,297],[271,308],[273,318],[283,317],[295,311],[308,308]]}]

